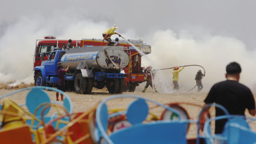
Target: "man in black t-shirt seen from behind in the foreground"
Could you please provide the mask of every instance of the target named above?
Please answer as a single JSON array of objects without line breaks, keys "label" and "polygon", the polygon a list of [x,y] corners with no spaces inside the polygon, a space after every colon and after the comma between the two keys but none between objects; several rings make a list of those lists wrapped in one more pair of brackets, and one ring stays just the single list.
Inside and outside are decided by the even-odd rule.
[{"label": "man in black t-shirt seen from behind in the foreground", "polygon": [[[204,100],[208,103],[218,103],[225,107],[230,115],[244,115],[247,108],[251,115],[255,115],[255,101],[251,90],[239,83],[241,67],[236,62],[231,62],[226,67],[227,81],[214,84]],[[223,111],[216,108],[216,116],[224,115]],[[215,121],[215,133],[222,133],[226,119]]]}]

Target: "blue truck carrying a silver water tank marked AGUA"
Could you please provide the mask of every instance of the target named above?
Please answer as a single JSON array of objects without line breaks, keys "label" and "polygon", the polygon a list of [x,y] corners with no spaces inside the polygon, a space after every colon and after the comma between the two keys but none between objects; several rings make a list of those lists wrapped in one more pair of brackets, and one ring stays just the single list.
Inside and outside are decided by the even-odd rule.
[{"label": "blue truck carrying a silver water tank marked AGUA", "polygon": [[[44,54],[42,54],[44,59]],[[35,67],[35,86],[55,85],[58,81],[57,63],[63,68],[70,65],[65,75],[66,87],[79,94],[90,94],[93,87],[109,93],[125,91],[125,74],[121,73],[129,65],[129,54],[123,46],[79,47],[70,50],[55,50],[41,66]]]}]

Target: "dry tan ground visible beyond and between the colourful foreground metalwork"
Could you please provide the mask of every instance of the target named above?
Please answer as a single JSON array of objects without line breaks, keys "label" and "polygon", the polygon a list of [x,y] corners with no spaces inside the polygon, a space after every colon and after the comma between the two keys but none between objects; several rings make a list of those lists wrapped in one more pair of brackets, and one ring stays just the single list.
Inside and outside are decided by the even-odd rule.
[{"label": "dry tan ground visible beyond and between the colourful foreground metalwork", "polygon": [[[0,90],[0,95],[5,95],[7,93],[13,92],[15,90]],[[55,92],[53,91],[46,91],[51,100],[55,100]],[[27,95],[28,91],[23,91],[17,94],[14,94],[12,97],[9,97],[11,100],[15,101],[18,104],[25,103],[25,98]],[[73,108],[74,108],[74,113],[76,112],[83,112],[86,110],[89,110],[93,106],[97,105],[99,101],[102,99],[105,99],[107,97],[110,97],[113,94],[109,94],[108,91],[104,90],[94,90],[91,94],[85,95],[85,94],[76,94],[75,92],[66,92],[69,97],[71,98],[73,102]],[[152,90],[148,89],[145,93],[141,93],[140,91],[135,91],[133,93],[129,92],[124,92],[123,94],[133,94],[133,95],[139,95],[141,97],[149,98],[152,100],[156,100],[161,103],[175,103],[175,102],[189,102],[189,103],[194,103],[197,105],[204,105],[204,99],[207,95],[207,93],[196,93],[196,92],[191,92],[191,93],[153,93]],[[254,94],[255,95],[255,94]],[[115,99],[111,100],[107,103],[108,108],[127,108],[129,106],[129,103],[133,99],[129,98],[121,98],[121,99]],[[0,100],[0,103],[3,103],[3,100]],[[148,103],[149,107],[155,106],[153,103]],[[182,105],[189,114],[190,118],[197,119],[199,111],[201,108],[196,107],[196,106],[188,106],[188,105]],[[23,108],[26,109],[26,106]],[[157,115],[161,116],[163,112],[163,108],[154,108],[151,109],[150,112]],[[55,110],[51,109],[49,114],[52,114]],[[214,108],[210,109],[211,115],[215,115],[215,110]],[[249,116],[248,111],[246,111],[246,115]],[[214,124],[212,128],[214,127]],[[256,130],[256,123],[251,123],[252,129]],[[255,128],[254,128],[255,127]],[[190,125],[189,133],[187,135],[188,138],[193,138],[196,137],[196,130],[197,126],[195,124]]]}]

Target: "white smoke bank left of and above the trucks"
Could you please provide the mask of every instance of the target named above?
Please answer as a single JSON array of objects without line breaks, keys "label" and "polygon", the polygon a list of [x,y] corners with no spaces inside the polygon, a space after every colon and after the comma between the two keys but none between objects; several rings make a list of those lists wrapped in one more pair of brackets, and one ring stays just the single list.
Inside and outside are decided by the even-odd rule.
[{"label": "white smoke bank left of and above the trucks", "polygon": [[[36,39],[43,39],[46,34],[58,35],[59,39],[102,38],[103,31],[113,25],[83,17],[59,17],[58,14],[47,18],[40,15],[21,17],[7,28],[0,38],[0,82],[34,83],[31,69]],[[137,38],[131,29],[123,36]]]}]

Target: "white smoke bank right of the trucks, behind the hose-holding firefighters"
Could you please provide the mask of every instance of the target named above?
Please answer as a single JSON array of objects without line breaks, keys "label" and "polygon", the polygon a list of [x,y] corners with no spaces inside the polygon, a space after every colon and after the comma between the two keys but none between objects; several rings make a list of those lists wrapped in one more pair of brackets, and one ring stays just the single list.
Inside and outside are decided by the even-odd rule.
[{"label": "white smoke bank right of the trucks, behind the hose-holding firefighters", "polygon": [[[214,83],[225,81],[226,66],[233,61],[238,62],[242,67],[240,82],[251,89],[254,88],[256,51],[246,50],[245,44],[234,37],[213,36],[205,33],[201,38],[195,39],[187,30],[181,30],[179,34],[175,34],[168,29],[154,33],[152,43],[152,53],[149,54],[149,58],[157,63],[158,68],[183,65],[203,66],[206,70],[206,76],[202,80],[204,91],[209,91]],[[203,71],[201,67],[185,67],[180,72],[181,91],[188,91],[196,85],[195,75],[199,69]],[[172,85],[171,72],[172,69],[163,70]],[[158,82],[157,79],[155,81]],[[196,90],[197,87],[194,91]]]}]

